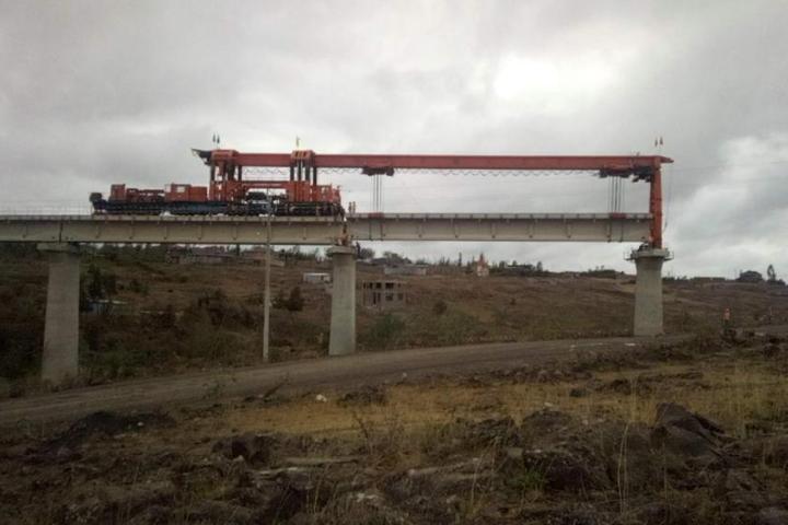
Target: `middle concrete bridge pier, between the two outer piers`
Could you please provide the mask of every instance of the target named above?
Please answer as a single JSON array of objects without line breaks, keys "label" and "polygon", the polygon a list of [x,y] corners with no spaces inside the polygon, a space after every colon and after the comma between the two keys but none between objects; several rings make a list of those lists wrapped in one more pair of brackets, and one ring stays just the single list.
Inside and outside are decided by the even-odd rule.
[{"label": "middle concrete bridge pier, between the two outer piers", "polygon": [[333,246],[332,326],[328,355],[356,352],[356,249]]}]

